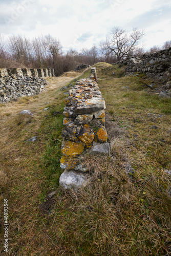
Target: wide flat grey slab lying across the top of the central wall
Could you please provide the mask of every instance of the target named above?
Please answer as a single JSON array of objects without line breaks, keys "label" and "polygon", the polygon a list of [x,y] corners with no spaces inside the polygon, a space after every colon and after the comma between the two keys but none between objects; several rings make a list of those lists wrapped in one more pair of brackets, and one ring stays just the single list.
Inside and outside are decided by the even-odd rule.
[{"label": "wide flat grey slab lying across the top of the central wall", "polygon": [[99,110],[105,109],[105,101],[103,98],[91,98],[76,106],[75,114],[92,114]]}]

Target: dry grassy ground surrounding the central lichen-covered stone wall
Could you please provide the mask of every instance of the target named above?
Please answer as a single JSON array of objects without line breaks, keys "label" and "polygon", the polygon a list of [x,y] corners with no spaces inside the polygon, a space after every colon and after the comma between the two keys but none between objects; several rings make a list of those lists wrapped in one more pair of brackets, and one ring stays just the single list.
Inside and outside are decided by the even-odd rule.
[{"label": "dry grassy ground surrounding the central lichen-covered stone wall", "polygon": [[[158,95],[158,81],[147,87],[153,81],[142,74],[95,66],[111,152],[87,157],[93,179],[85,189],[59,187],[68,91],[59,88],[89,70],[49,77],[41,94],[0,104],[1,212],[4,199],[9,207],[9,254],[2,248],[2,255],[171,253],[171,99]],[[33,115],[20,115],[24,109]]]}]

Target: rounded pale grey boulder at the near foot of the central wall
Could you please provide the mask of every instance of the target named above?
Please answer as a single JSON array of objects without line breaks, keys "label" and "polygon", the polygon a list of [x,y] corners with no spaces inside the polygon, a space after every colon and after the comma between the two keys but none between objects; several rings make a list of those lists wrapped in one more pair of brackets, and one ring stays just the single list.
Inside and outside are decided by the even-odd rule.
[{"label": "rounded pale grey boulder at the near foot of the central wall", "polygon": [[59,184],[64,188],[81,188],[86,186],[89,181],[88,174],[78,173],[75,170],[65,170],[59,178]]}]

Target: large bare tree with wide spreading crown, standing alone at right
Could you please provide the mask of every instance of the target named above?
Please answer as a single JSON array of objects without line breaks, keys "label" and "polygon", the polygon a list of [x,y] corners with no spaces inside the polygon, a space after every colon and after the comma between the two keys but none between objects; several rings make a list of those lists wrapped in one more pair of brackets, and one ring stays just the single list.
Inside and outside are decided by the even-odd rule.
[{"label": "large bare tree with wide spreading crown, standing alone at right", "polygon": [[132,32],[113,27],[110,36],[106,37],[105,49],[117,56],[117,59],[130,55],[137,47],[139,40],[144,35],[144,30],[133,28]]}]

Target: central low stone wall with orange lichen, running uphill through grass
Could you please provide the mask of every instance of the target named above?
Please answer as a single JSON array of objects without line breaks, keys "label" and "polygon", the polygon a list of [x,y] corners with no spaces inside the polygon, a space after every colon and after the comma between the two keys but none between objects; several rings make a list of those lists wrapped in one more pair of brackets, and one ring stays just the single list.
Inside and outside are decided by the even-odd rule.
[{"label": "central low stone wall with orange lichen, running uphill through grass", "polygon": [[96,70],[76,82],[65,100],[62,129],[61,168],[65,169],[59,183],[65,188],[86,185],[85,154],[108,154],[109,143],[105,129],[105,102],[97,85]]}]

